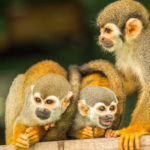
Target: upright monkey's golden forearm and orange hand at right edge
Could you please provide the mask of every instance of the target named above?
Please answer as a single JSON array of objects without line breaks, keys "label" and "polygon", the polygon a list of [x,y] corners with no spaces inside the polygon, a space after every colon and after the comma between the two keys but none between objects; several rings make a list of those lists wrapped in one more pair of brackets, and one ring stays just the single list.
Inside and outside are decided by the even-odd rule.
[{"label": "upright monkey's golden forearm and orange hand at right edge", "polygon": [[145,85],[142,91],[129,126],[117,131],[121,136],[119,140],[121,150],[124,148],[128,150],[128,145],[132,150],[134,142],[136,149],[139,149],[140,136],[150,134],[150,87]]}]

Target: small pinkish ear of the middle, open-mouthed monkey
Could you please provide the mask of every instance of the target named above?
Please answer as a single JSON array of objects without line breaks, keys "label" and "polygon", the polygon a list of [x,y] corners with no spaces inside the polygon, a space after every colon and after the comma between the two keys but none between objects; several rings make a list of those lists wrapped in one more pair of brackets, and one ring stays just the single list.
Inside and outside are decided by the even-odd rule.
[{"label": "small pinkish ear of the middle, open-mouthed monkey", "polygon": [[89,115],[89,107],[87,106],[84,100],[78,101],[78,110],[82,116]]}]

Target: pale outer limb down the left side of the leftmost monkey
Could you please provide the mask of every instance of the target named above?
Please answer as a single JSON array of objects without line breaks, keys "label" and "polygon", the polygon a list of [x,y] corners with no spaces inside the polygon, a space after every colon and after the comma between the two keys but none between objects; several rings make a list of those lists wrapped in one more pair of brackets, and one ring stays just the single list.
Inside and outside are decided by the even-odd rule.
[{"label": "pale outer limb down the left side of the leftmost monkey", "polygon": [[5,125],[6,144],[13,143],[13,126],[23,106],[22,88],[24,75],[18,75],[13,81],[6,99]]}]

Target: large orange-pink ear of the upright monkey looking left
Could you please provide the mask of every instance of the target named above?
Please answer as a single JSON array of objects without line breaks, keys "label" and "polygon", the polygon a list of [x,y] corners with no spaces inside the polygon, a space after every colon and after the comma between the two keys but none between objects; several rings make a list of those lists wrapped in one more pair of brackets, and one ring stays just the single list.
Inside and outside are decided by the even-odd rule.
[{"label": "large orange-pink ear of the upright monkey looking left", "polygon": [[137,18],[130,18],[125,25],[125,32],[129,38],[136,38],[142,30],[142,22]]}]

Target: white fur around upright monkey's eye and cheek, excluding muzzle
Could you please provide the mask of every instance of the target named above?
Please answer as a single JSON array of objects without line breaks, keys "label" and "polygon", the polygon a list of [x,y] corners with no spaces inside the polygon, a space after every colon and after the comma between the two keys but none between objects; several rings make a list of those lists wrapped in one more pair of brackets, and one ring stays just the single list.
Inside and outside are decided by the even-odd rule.
[{"label": "white fur around upright monkey's eye and cheek, excluding muzzle", "polygon": [[[111,29],[112,30],[111,33],[106,33],[105,28]],[[120,38],[120,35],[121,35],[120,29],[115,24],[108,23],[101,29],[100,37],[105,37],[107,39],[112,40],[114,45],[112,47],[105,47],[104,44],[100,41],[99,44],[102,45],[102,47],[109,52],[118,50],[123,45],[123,41]]]}]

